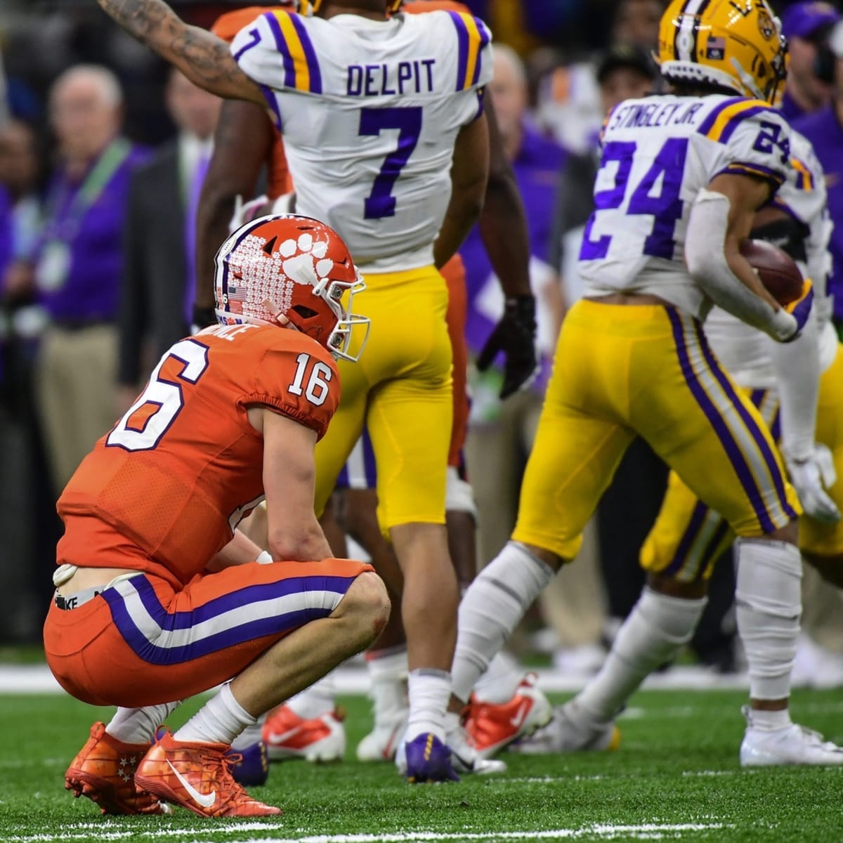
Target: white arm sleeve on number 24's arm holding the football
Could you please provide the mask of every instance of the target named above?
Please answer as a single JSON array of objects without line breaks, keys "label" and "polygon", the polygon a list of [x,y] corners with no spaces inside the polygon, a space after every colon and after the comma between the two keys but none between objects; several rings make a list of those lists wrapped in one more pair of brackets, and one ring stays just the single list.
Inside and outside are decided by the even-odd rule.
[{"label": "white arm sleeve on number 24's arm holding the football", "polygon": [[688,271],[718,307],[776,341],[790,339],[798,330],[796,319],[783,308],[772,309],[729,266],[724,251],[728,215],[729,201],[722,193],[702,190],[697,194],[685,237]]}]

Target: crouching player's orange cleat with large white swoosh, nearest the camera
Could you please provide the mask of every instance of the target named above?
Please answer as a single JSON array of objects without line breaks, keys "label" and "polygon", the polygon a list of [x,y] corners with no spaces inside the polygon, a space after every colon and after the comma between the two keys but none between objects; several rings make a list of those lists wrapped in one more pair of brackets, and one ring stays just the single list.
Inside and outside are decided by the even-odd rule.
[{"label": "crouching player's orange cleat with large white swoosh, nearest the camera", "polygon": [[200,817],[270,817],[281,808],[253,799],[231,775],[228,744],[176,740],[165,732],[137,765],[135,784]]}]

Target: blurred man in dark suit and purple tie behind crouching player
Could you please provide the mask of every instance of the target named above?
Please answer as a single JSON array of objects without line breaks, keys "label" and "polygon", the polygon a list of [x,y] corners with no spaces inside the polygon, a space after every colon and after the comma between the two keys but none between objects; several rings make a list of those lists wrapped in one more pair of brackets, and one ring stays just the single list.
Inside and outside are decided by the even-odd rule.
[{"label": "blurred man in dark suit and purple tie behind crouching player", "polygon": [[119,316],[120,413],[132,404],[158,357],[188,333],[196,290],[196,208],[221,100],[175,69],[165,97],[178,137],[139,165],[129,186]]}]

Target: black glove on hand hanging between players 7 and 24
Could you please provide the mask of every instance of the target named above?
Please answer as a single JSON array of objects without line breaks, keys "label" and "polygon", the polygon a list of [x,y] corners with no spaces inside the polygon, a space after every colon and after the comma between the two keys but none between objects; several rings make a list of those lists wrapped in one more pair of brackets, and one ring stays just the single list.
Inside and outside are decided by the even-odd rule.
[{"label": "black glove on hand hanging between players 7 and 24", "polygon": [[535,357],[535,298],[507,298],[501,320],[477,357],[477,368],[485,372],[497,352],[503,352],[501,398],[529,384],[538,370]]}]

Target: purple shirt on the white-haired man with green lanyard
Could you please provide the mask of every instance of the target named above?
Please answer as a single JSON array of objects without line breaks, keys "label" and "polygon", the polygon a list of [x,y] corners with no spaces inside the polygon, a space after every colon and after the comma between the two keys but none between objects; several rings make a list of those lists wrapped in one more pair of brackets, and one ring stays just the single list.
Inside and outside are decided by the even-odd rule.
[{"label": "purple shirt on the white-haired man with green lanyard", "polygon": [[[38,266],[51,241],[67,247],[69,262],[64,282],[55,289],[40,284],[40,303],[52,319],[96,322],[116,318],[129,175],[147,157],[145,149],[131,148],[94,201],[81,210],[78,194],[85,177],[74,182],[63,169],[53,176],[47,191],[45,231],[34,255]],[[91,169],[95,166],[96,162]]]}]

